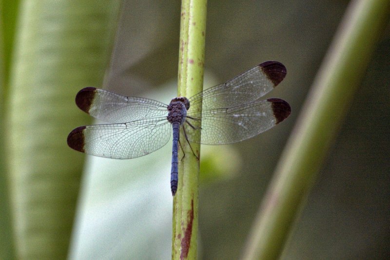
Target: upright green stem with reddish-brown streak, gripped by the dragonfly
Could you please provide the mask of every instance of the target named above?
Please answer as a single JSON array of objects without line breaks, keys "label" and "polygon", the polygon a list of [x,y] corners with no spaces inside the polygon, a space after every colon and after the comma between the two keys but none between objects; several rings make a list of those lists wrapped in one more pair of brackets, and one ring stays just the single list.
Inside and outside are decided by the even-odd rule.
[{"label": "upright green stem with reddish-brown streak, gripped by the dragonfly", "polygon": [[[206,10],[207,0],[182,1],[178,96],[192,97],[202,91]],[[190,147],[182,131],[180,139],[185,157],[179,160],[179,183],[173,201],[172,259],[196,259],[200,145],[191,143]]]}]

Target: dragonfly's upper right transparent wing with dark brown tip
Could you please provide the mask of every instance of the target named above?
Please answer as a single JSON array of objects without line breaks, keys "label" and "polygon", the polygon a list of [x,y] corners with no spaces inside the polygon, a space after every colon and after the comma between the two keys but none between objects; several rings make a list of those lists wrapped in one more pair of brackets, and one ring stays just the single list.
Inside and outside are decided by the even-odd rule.
[{"label": "dragonfly's upper right transparent wing with dark brown tip", "polygon": [[273,90],[286,73],[286,67],[278,61],[263,62],[232,80],[191,97],[189,110],[200,110],[200,103],[208,110],[252,102]]}]

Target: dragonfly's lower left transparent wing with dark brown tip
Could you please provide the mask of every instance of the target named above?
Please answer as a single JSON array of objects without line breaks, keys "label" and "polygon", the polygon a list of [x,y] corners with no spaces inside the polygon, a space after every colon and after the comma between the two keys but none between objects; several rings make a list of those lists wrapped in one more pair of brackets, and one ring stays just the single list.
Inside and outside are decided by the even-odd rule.
[{"label": "dragonfly's lower left transparent wing with dark brown tip", "polygon": [[86,154],[131,159],[147,155],[164,146],[171,136],[166,118],[119,124],[80,126],[68,136],[68,145]]}]

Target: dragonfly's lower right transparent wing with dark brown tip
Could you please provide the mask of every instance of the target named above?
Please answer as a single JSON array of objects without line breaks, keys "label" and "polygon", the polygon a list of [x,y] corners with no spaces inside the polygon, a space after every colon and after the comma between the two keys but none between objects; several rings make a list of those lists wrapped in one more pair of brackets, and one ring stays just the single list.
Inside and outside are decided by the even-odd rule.
[{"label": "dragonfly's lower right transparent wing with dark brown tip", "polygon": [[[254,137],[286,119],[290,105],[281,99],[256,100],[230,108],[205,109],[202,111],[202,144],[227,144]],[[197,125],[198,115],[187,113],[187,121]],[[185,124],[187,137],[194,136],[200,128]]]}]

